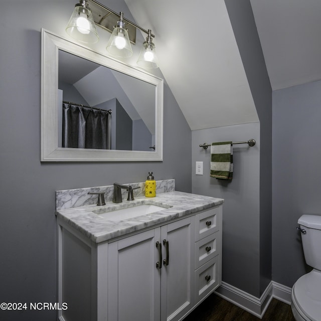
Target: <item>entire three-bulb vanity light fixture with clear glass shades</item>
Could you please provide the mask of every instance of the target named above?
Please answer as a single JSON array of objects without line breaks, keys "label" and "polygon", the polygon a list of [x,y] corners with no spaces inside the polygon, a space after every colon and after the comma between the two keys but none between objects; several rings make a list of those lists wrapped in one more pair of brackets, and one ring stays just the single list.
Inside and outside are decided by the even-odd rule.
[{"label": "entire three-bulb vanity light fixture with clear glass shades", "polygon": [[[70,18],[69,24],[66,28],[66,32],[71,37],[81,42],[95,42],[90,41],[92,38],[96,38],[95,40],[98,41],[98,34],[94,26],[94,24],[96,24],[112,33],[106,47],[107,52],[115,57],[126,58],[132,55],[130,43],[136,43],[136,29],[139,29],[147,34],[147,37],[146,41],[142,45],[137,64],[143,68],[158,68],[155,45],[152,42],[152,38],[155,36],[149,29],[146,31],[133,22],[125,19],[122,12],[117,14],[111,9],[101,5],[96,0],[79,0],[79,2],[80,4],[75,6],[74,13]],[[85,10],[88,10],[89,13],[85,12]],[[94,31],[87,27],[83,27],[83,25],[77,25],[74,22],[76,20],[73,18],[74,16],[76,18],[84,18],[85,20],[87,17],[88,25],[93,25]],[[92,21],[89,21],[91,18]],[[85,22],[83,23],[86,24]],[[86,32],[90,36],[85,37],[84,35],[86,35]],[[88,40],[86,41],[85,38]]]}]

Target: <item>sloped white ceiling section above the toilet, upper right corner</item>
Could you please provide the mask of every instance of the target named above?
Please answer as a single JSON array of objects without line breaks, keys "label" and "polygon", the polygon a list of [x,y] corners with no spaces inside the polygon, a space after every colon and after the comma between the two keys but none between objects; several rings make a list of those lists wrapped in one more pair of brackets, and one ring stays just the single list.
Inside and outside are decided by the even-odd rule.
[{"label": "sloped white ceiling section above the toilet, upper right corner", "polygon": [[250,0],[272,90],[321,79],[321,0]]}]

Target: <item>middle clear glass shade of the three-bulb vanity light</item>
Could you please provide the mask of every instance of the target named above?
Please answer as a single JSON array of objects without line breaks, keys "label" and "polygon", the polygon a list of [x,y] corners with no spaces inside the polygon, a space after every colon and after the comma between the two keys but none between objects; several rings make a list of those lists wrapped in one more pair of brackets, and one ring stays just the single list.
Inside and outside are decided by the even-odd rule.
[{"label": "middle clear glass shade of the three-bulb vanity light", "polygon": [[127,58],[132,55],[128,32],[121,27],[115,27],[107,44],[106,50],[116,57]]}]

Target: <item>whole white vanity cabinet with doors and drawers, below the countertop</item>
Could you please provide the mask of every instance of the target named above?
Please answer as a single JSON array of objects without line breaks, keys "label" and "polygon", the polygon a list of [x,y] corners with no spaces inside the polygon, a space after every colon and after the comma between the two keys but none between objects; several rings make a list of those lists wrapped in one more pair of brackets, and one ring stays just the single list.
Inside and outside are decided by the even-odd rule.
[{"label": "whole white vanity cabinet with doors and drawers, below the countertop", "polygon": [[100,243],[58,227],[61,321],[181,321],[221,283],[221,205]]}]

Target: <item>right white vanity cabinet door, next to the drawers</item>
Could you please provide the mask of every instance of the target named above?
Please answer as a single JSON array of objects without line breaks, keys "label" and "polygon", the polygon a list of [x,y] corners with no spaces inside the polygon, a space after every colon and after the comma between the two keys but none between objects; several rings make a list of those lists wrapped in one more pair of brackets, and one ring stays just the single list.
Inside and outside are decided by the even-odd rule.
[{"label": "right white vanity cabinet door, next to the drawers", "polygon": [[161,228],[164,258],[161,269],[162,321],[179,320],[194,306],[193,221],[194,217],[189,217]]}]

